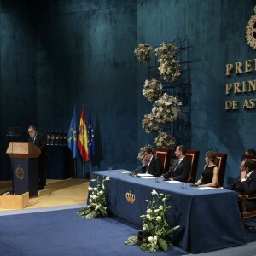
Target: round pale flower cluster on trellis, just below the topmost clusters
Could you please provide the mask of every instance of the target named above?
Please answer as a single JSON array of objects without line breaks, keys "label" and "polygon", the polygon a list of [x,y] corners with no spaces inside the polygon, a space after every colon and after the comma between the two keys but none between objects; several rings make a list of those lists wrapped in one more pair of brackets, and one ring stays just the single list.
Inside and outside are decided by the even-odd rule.
[{"label": "round pale flower cluster on trellis, just below the topmost clusters", "polygon": [[143,87],[143,96],[145,96],[149,102],[154,102],[160,96],[162,96],[163,85],[156,79],[146,80]]}]

